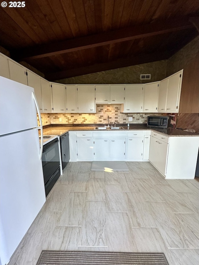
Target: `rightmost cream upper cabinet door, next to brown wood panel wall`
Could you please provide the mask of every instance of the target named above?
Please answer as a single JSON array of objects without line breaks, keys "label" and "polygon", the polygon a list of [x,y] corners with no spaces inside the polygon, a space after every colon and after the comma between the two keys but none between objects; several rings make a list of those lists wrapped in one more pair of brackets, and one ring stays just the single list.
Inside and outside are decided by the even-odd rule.
[{"label": "rightmost cream upper cabinet door, next to brown wood panel wall", "polygon": [[178,93],[180,85],[181,73],[178,72],[175,75],[169,77],[169,84],[167,89],[167,103],[166,111],[173,112],[178,110]]}]

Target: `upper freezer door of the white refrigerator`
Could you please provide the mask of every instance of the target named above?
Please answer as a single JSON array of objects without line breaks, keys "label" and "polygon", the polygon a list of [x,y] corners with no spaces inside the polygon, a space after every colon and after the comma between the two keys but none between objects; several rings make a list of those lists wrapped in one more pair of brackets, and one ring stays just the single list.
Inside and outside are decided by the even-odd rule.
[{"label": "upper freezer door of the white refrigerator", "polygon": [[32,91],[27,85],[0,76],[0,135],[38,126]]}]

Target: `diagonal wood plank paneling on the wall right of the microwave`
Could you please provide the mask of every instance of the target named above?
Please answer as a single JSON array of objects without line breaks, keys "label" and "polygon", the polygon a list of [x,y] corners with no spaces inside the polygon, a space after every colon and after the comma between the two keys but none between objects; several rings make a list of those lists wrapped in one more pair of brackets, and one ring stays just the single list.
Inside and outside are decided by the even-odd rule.
[{"label": "diagonal wood plank paneling on the wall right of the microwave", "polygon": [[199,114],[198,113],[179,113],[176,128],[194,129],[199,132]]}]

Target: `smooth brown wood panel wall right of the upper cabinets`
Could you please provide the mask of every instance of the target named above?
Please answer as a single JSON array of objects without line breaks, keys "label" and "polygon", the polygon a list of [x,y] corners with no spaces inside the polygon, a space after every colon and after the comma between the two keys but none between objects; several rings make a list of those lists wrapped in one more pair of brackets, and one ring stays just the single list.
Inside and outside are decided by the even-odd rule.
[{"label": "smooth brown wood panel wall right of the upper cabinets", "polygon": [[183,70],[179,113],[199,113],[199,52]]}]

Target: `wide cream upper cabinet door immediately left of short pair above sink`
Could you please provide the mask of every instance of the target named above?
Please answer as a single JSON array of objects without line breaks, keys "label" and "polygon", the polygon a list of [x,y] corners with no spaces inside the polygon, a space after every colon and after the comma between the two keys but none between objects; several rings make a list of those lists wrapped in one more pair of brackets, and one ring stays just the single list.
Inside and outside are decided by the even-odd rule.
[{"label": "wide cream upper cabinet door immediately left of short pair above sink", "polygon": [[89,113],[95,112],[95,86],[78,85],[78,112]]}]

